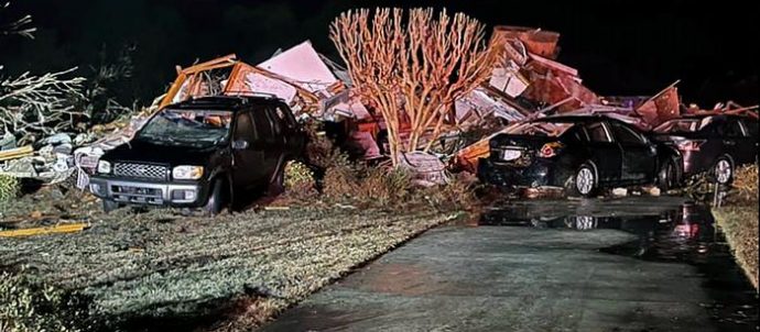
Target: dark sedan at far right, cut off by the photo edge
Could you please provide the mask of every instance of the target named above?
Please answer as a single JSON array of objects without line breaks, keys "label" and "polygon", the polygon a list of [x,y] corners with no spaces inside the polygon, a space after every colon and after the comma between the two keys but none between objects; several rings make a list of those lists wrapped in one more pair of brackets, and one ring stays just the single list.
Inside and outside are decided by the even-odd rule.
[{"label": "dark sedan at far right, cut off by the photo edge", "polygon": [[709,171],[713,180],[728,185],[734,168],[758,158],[758,120],[739,115],[688,115],[654,129],[654,139],[683,155],[686,176]]}]

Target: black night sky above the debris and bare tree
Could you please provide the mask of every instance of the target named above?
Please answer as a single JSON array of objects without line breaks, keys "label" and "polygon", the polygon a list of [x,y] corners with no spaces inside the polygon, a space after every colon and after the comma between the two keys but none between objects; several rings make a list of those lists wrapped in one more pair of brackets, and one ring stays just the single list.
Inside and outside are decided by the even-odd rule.
[{"label": "black night sky above the debris and bare tree", "polygon": [[[256,64],[311,40],[337,58],[329,22],[360,7],[434,7],[444,1],[15,0],[0,20],[32,14],[35,40],[0,40],[6,74],[89,66],[134,47],[133,77],[120,101],[163,92],[175,65],[236,53]],[[557,31],[560,60],[600,95],[652,95],[681,79],[687,102],[758,103],[758,1],[450,1],[493,25]],[[507,5],[509,3],[509,5]],[[719,4],[719,5],[718,5]]]}]

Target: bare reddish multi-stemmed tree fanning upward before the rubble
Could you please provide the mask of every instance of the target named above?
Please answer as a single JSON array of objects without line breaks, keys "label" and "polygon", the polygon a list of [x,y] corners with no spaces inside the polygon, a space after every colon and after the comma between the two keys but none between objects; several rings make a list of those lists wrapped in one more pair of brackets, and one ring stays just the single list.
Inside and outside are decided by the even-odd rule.
[{"label": "bare reddish multi-stemmed tree fanning upward before the rubble", "polygon": [[[485,26],[463,13],[437,19],[432,9],[366,9],[340,14],[330,24],[335,43],[360,96],[380,110],[391,158],[428,150],[441,135],[454,100],[490,75],[499,55],[484,42]],[[448,119],[454,121],[455,119]],[[401,124],[409,137],[401,140]],[[421,139],[432,130],[427,144]]]}]

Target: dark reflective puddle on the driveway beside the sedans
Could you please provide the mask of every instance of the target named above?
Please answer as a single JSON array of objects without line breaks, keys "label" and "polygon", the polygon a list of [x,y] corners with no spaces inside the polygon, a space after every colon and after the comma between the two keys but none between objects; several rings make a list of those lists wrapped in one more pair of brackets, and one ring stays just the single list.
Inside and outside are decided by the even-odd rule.
[{"label": "dark reflective puddle on the driveway beside the sedans", "polygon": [[735,263],[709,207],[691,202],[675,206],[639,202],[627,208],[593,200],[523,201],[487,209],[478,225],[569,232],[614,229],[631,233],[638,239],[600,252],[697,267],[703,277],[702,287],[712,299],[701,306],[719,331],[758,331],[757,292]]}]

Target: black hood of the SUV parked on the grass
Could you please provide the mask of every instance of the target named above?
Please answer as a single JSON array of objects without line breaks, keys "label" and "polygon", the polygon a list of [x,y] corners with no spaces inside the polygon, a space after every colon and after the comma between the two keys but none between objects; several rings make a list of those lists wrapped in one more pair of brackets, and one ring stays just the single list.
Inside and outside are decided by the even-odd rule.
[{"label": "black hood of the SUV parked on the grass", "polygon": [[219,146],[197,147],[164,145],[132,140],[119,145],[101,157],[109,162],[135,162],[177,165],[205,165],[219,151]]}]

